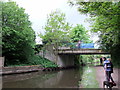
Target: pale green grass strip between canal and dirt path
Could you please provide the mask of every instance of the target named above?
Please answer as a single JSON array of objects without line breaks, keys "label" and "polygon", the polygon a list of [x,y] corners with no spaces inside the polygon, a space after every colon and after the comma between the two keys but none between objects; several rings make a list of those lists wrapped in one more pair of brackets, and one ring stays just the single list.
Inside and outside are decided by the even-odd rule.
[{"label": "pale green grass strip between canal and dirt path", "polygon": [[82,88],[99,88],[93,67],[87,66],[83,69],[82,81],[79,82],[79,86]]}]

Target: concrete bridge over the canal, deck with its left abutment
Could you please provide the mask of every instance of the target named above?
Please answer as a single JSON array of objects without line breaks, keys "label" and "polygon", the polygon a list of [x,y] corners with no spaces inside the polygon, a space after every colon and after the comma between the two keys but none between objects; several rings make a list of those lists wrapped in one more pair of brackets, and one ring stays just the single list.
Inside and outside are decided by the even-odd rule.
[{"label": "concrete bridge over the canal, deck with its left abutment", "polygon": [[95,55],[95,54],[110,54],[110,52],[105,52],[101,49],[86,49],[86,48],[70,48],[70,47],[60,47],[57,51],[53,46],[49,46],[46,51],[39,53],[40,56],[43,56],[49,59],[52,62],[55,62],[59,67],[69,67],[74,66],[75,56],[76,55]]}]

